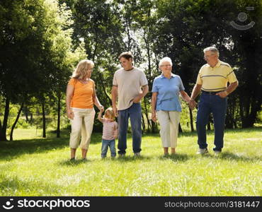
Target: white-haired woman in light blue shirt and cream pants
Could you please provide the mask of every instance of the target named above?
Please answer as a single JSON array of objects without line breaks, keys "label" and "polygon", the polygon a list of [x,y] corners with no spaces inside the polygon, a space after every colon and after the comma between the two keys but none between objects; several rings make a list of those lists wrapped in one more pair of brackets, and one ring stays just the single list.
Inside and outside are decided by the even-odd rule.
[{"label": "white-haired woman in light blue shirt and cream pants", "polygon": [[171,147],[171,154],[176,153],[181,114],[178,96],[181,94],[183,100],[188,103],[190,103],[190,98],[184,91],[181,78],[171,72],[172,61],[169,57],[164,57],[159,61],[159,69],[162,73],[154,78],[152,88],[152,120],[156,122],[157,114],[164,155],[169,155],[169,147]]}]

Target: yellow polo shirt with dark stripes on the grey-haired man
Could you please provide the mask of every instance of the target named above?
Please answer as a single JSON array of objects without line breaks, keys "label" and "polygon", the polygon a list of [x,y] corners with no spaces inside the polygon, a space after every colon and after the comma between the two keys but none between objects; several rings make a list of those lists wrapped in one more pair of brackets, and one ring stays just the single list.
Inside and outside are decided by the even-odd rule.
[{"label": "yellow polo shirt with dark stripes on the grey-haired man", "polygon": [[214,67],[205,64],[201,67],[197,84],[202,86],[202,90],[209,92],[218,92],[227,89],[227,83],[234,83],[237,77],[231,66],[223,61],[218,60]]}]

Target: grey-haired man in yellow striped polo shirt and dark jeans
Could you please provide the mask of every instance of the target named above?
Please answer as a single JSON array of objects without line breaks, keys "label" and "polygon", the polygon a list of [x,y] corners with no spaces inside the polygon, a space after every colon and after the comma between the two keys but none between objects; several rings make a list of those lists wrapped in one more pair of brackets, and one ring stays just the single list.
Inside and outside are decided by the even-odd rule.
[{"label": "grey-haired man in yellow striped polo shirt and dark jeans", "polygon": [[[206,125],[212,112],[215,127],[215,155],[222,152],[224,144],[224,120],[227,112],[227,96],[238,86],[237,78],[229,64],[220,61],[216,47],[207,47],[203,50],[207,64],[203,65],[198,73],[196,84],[190,100],[195,101],[200,91],[198,104],[197,131],[199,154],[208,153]],[[229,83],[229,86],[227,84]]]}]

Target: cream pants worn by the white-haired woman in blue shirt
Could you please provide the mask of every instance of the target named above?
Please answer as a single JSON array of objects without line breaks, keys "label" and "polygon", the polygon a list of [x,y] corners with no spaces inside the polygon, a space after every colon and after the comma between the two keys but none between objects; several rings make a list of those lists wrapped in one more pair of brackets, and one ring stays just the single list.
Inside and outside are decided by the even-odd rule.
[{"label": "cream pants worn by the white-haired woman in blue shirt", "polygon": [[160,124],[160,136],[163,147],[176,148],[178,139],[178,124],[181,112],[163,111],[156,112]]}]

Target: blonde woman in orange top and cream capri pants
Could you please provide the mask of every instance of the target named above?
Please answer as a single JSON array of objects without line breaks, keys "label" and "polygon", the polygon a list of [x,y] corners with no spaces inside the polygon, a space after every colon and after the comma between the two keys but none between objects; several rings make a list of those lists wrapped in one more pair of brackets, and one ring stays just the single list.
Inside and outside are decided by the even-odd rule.
[{"label": "blonde woman in orange top and cream capri pants", "polygon": [[[67,85],[67,117],[71,119],[72,126],[69,141],[71,160],[75,160],[78,146],[82,151],[82,159],[86,160],[95,117],[93,105],[103,111],[103,106],[96,96],[95,83],[90,78],[93,66],[91,60],[79,61]],[[79,145],[80,136],[81,142]]]}]

